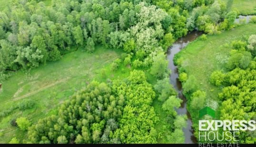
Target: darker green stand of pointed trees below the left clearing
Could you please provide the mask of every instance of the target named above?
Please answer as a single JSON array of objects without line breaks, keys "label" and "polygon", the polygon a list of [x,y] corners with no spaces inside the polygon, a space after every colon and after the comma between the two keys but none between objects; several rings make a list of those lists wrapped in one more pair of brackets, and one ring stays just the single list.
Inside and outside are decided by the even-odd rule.
[{"label": "darker green stand of pointed trees below the left clearing", "polygon": [[[105,83],[91,82],[59,108],[29,128],[32,143],[107,143],[118,128],[124,97],[116,97]],[[65,136],[64,136],[65,135]]]}]

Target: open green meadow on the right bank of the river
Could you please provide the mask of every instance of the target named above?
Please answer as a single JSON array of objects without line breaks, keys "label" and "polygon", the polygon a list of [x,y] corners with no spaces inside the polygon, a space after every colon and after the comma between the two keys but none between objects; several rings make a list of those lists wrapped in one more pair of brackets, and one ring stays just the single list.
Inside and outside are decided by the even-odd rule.
[{"label": "open green meadow on the right bank of the river", "polygon": [[[226,47],[233,40],[245,39],[251,34],[256,34],[256,24],[246,24],[234,30],[225,31],[219,35],[207,36],[207,40],[197,39],[177,54],[181,61],[180,69],[184,69],[189,76],[195,76],[198,89],[207,94],[207,101],[214,100],[220,104],[217,94],[221,88],[209,83],[209,77],[215,70],[224,70],[229,57],[229,48]],[[210,103],[213,105],[213,103]],[[188,106],[188,109],[189,106]],[[198,112],[191,111],[194,125],[197,125]]]}]

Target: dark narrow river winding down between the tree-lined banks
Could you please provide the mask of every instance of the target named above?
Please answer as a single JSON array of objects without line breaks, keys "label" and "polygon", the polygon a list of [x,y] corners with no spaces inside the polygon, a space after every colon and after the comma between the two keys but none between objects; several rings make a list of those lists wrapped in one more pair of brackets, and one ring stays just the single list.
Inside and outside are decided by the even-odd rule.
[{"label": "dark narrow river winding down between the tree-lined banks", "polygon": [[177,54],[181,49],[186,47],[189,42],[195,40],[201,34],[201,32],[192,31],[188,33],[187,36],[178,39],[167,51],[167,59],[169,60],[168,68],[172,71],[170,76],[170,83],[178,92],[178,97],[183,100],[181,107],[176,109],[176,111],[178,115],[187,115],[187,127],[183,128],[183,132],[185,134],[185,143],[197,143],[197,139],[193,133],[194,130],[192,128],[192,120],[190,113],[187,111],[187,101],[185,96],[182,94],[182,85],[178,80],[178,69],[177,66],[174,65],[173,58],[175,54]]}]

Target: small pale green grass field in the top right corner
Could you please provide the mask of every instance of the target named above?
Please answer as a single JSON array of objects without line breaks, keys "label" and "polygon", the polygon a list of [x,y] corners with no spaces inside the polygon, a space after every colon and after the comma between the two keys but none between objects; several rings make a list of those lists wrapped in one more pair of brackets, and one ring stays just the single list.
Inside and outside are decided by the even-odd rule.
[{"label": "small pale green grass field in the top right corner", "polygon": [[256,0],[233,0],[231,10],[238,11],[240,15],[256,15]]}]

